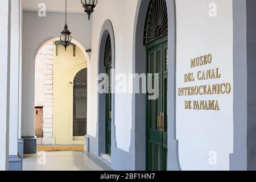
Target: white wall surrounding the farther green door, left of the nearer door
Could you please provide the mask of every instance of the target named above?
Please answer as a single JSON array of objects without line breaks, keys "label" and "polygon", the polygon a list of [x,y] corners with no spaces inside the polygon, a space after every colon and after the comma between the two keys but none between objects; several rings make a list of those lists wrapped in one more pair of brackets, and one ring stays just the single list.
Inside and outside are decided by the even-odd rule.
[{"label": "white wall surrounding the farther green door, left of the nearer door", "polygon": [[[97,134],[97,76],[100,33],[105,20],[109,19],[114,28],[115,74],[132,73],[133,34],[137,0],[99,1],[92,14],[92,53],[88,63],[88,134]],[[100,64],[104,64],[103,62]],[[117,147],[129,151],[131,142],[131,94],[115,94],[115,138]],[[114,132],[114,131],[112,131]]]}]

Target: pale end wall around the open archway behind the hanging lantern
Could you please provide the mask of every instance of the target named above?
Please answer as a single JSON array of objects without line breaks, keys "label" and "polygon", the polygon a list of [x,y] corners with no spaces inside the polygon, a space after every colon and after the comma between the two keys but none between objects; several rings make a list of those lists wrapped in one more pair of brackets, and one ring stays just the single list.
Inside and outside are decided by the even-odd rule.
[{"label": "pale end wall around the open archway behind the hanging lantern", "polygon": [[[22,63],[22,136],[34,136],[34,84],[36,52],[47,40],[60,36],[65,15],[23,13],[23,63]],[[90,48],[90,22],[86,14],[68,14],[68,27],[72,37],[85,49]]]}]

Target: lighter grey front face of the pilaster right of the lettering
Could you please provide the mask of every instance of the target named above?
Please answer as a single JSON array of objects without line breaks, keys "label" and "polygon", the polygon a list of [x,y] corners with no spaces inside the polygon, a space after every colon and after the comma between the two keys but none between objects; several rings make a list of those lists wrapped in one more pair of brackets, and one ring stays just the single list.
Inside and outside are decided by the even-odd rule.
[{"label": "lighter grey front face of the pilaster right of the lettering", "polygon": [[246,1],[233,0],[234,151],[230,170],[247,169]]}]

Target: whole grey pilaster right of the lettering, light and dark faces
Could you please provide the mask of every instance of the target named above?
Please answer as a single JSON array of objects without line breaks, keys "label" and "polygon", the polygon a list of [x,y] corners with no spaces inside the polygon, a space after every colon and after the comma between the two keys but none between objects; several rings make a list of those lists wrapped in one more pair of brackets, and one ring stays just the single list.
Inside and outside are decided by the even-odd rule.
[{"label": "whole grey pilaster right of the lettering, light and dark faces", "polygon": [[233,0],[234,153],[230,170],[256,170],[256,1]]}]

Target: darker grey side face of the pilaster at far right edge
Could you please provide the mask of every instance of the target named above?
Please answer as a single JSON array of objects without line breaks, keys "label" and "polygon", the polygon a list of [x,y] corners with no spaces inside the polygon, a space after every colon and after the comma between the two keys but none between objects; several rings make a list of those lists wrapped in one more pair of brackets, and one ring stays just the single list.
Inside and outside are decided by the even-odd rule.
[{"label": "darker grey side face of the pilaster at far right edge", "polygon": [[247,0],[247,169],[256,170],[256,1]]}]

